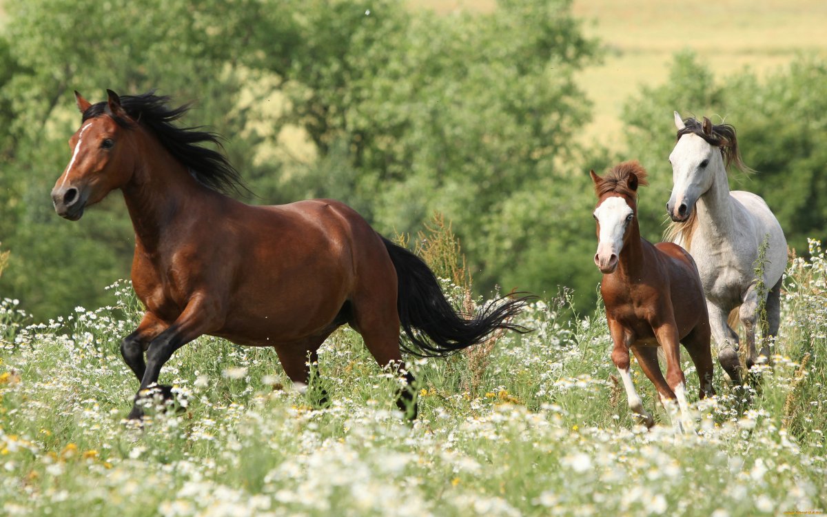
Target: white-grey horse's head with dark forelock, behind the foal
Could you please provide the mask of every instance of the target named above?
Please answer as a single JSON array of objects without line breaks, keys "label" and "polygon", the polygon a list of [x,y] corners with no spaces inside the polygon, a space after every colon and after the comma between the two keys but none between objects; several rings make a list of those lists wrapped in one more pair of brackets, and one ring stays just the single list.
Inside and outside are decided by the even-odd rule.
[{"label": "white-grey horse's head with dark forelock, behind the foal", "polygon": [[[695,203],[712,187],[716,175],[725,173],[730,161],[743,167],[738,154],[735,129],[729,124],[714,125],[704,117],[681,119],[675,112],[677,141],[669,162],[672,164],[672,197],[667,212],[672,221],[685,222]],[[725,181],[725,178],[724,178]]]}]

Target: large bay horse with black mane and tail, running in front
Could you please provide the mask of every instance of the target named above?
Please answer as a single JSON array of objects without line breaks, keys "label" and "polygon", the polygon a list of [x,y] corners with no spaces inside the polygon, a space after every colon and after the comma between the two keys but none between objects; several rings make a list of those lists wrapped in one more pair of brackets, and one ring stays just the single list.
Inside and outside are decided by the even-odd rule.
[{"label": "large bay horse with black mane and tail, running in front", "polygon": [[[135,228],[132,285],[146,313],[121,344],[141,387],[129,415],[160,369],[202,334],[273,347],[284,371],[308,382],[308,357],[337,327],[361,333],[380,366],[407,380],[397,404],[416,404],[399,350],[401,323],[418,350],[442,356],[480,342],[524,299],[502,299],[466,319],[417,256],[376,233],[342,203],[314,199],[250,206],[225,195],[241,187],[219,152],[198,144],[218,136],[172,122],[187,107],[146,93],[88,103],[75,92],[83,122],[69,139],[72,158],[52,190],[55,210],[77,221],[84,209],[121,189]],[[415,330],[414,330],[415,329]],[[146,361],[144,355],[146,353]],[[169,386],[160,386],[165,397]]]}]

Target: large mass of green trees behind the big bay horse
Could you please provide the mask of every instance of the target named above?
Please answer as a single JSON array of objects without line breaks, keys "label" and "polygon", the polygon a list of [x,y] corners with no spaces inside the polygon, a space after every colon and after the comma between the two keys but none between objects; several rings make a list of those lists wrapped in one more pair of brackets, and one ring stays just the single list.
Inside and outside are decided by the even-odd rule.
[{"label": "large mass of green trees behind the big bay horse", "polygon": [[573,163],[570,140],[587,120],[572,72],[596,51],[567,0],[504,0],[490,15],[449,17],[390,0],[370,10],[36,0],[8,16],[0,235],[12,263],[2,290],[42,317],[93,302],[130,257],[118,196],[79,224],[50,208],[79,121],[72,89],[90,100],[104,88],[197,100],[184,122],[227,136],[254,203],[342,199],[386,234],[416,232],[438,210],[473,269],[493,262],[480,275],[490,288],[504,278],[494,257],[519,252],[501,215],[547,187],[539,178],[571,170],[555,164]]}]

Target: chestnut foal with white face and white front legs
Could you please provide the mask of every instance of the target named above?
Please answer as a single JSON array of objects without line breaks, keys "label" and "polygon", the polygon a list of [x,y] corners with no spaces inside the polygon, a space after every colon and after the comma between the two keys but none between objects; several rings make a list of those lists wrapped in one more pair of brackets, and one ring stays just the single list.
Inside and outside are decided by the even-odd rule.
[{"label": "chestnut foal with white face and white front legs", "polygon": [[[603,272],[600,294],[606,306],[609,333],[614,342],[612,361],[623,379],[629,408],[652,427],[652,416],[634,390],[629,375],[629,350],[661,400],[677,400],[682,427],[690,427],[686,380],[681,371],[681,349],[695,363],[700,377],[700,398],[714,395],[710,323],[704,290],[695,261],[671,242],[654,246],[640,237],[638,185],[647,184],[646,171],[637,161],[625,161],[601,178],[591,171],[597,194],[595,264]],[[667,363],[664,380],[657,363],[657,347]],[[679,424],[680,425],[680,424]]]}]

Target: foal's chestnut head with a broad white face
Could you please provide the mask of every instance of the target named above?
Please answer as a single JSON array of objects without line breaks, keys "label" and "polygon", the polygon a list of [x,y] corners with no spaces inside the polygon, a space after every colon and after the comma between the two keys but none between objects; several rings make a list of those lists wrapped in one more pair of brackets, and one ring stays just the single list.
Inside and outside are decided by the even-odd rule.
[{"label": "foal's chestnut head with a broad white face", "polygon": [[648,184],[646,170],[637,160],[614,165],[604,177],[590,172],[597,194],[597,252],[595,265],[603,273],[617,269],[620,251],[631,236],[638,215],[638,185]]}]

